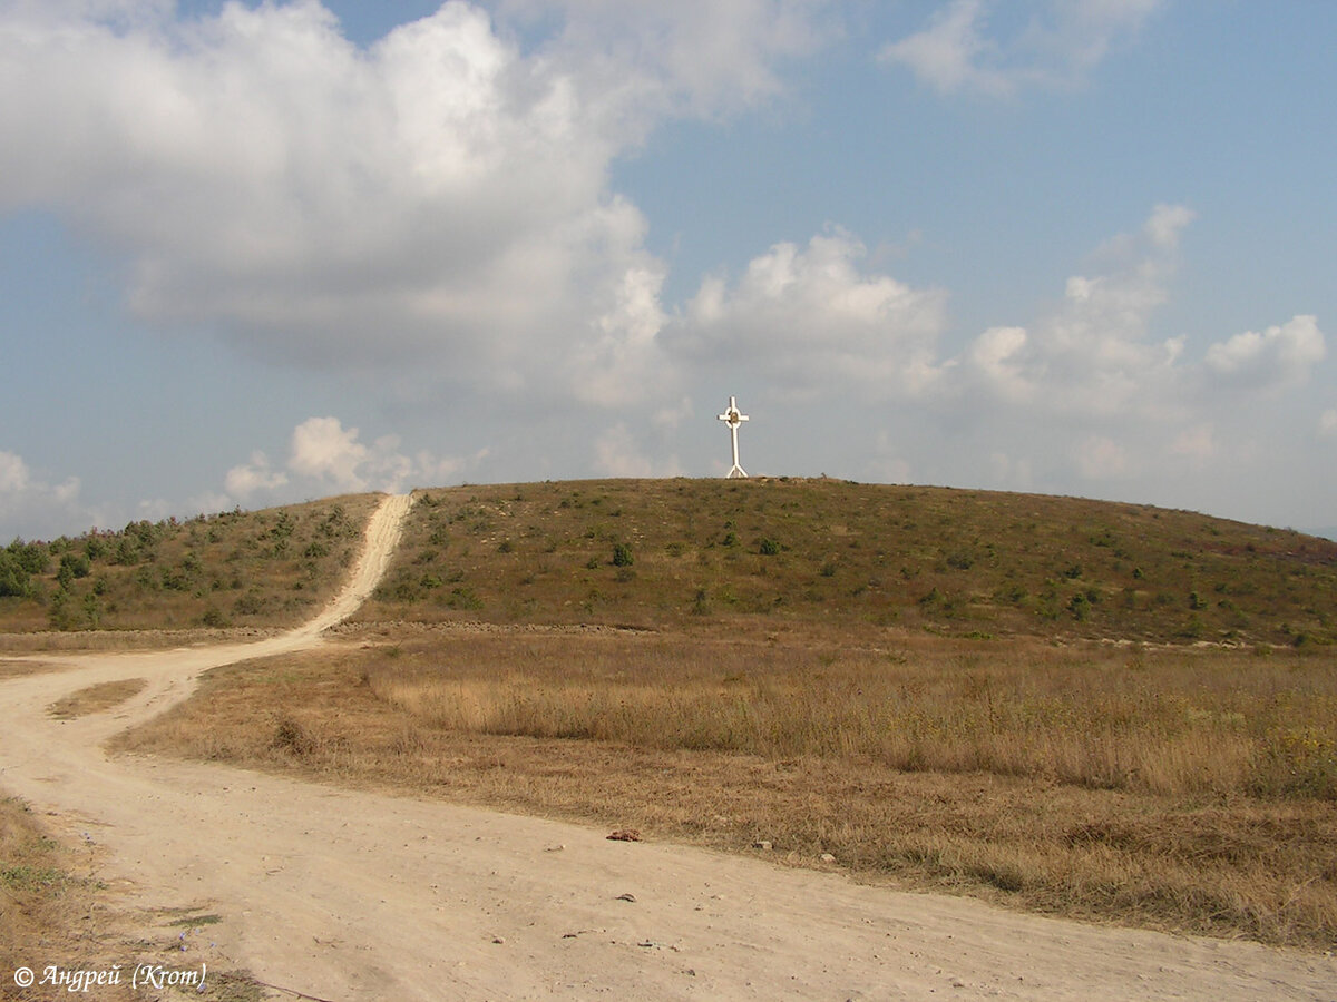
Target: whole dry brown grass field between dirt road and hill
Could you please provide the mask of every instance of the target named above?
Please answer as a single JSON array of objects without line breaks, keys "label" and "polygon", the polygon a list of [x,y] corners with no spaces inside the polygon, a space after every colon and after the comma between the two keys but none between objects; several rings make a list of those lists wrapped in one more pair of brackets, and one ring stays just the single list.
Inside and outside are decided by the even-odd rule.
[{"label": "whole dry brown grass field between dirt road and hill", "polygon": [[1332,947],[1334,700],[1322,656],[369,633],[215,672],[124,745]]}]

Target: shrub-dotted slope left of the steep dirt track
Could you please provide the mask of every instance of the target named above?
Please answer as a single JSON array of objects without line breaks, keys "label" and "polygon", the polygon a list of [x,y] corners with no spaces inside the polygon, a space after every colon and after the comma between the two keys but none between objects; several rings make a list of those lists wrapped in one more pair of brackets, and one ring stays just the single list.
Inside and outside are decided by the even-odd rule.
[{"label": "shrub-dotted slope left of the steep dirt track", "polygon": [[0,632],[299,623],[337,589],[376,502],[362,494],[15,540],[0,549]]}]

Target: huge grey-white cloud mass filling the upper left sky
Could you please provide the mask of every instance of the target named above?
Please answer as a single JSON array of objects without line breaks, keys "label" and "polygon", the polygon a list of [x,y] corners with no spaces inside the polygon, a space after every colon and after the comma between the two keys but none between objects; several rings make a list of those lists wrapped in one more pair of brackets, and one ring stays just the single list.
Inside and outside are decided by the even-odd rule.
[{"label": "huge grey-white cloud mass filling the upper left sky", "polygon": [[822,7],[452,1],[360,48],[313,0],[9,3],[0,210],[126,262],[139,318],[261,357],[618,403],[663,269],[612,159],[777,92]]}]

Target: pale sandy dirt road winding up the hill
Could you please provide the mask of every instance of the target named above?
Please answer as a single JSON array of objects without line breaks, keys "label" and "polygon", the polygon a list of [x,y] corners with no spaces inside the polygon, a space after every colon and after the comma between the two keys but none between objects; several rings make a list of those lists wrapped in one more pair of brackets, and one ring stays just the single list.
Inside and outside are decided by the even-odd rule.
[{"label": "pale sandy dirt road winding up the hill", "polygon": [[[348,589],[298,631],[43,655],[62,669],[0,680],[0,788],[103,854],[127,906],[222,918],[183,934],[180,969],[245,967],[340,1002],[1337,999],[1332,957],[1020,915],[541,819],[102,751],[189,696],[207,668],[321,643],[374,587],[406,510],[408,498],[386,500]],[[106,713],[60,723],[45,712],[123,677],[148,685]]]}]

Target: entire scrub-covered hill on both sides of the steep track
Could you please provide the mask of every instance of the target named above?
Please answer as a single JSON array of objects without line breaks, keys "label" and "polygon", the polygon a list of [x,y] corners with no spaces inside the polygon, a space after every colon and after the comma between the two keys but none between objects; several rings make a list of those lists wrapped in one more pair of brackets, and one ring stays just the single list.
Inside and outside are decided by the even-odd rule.
[{"label": "entire scrub-covered hill on both sides of the steep track", "polygon": [[[317,608],[374,496],[0,549],[0,631],[270,628]],[[885,627],[1326,644],[1337,542],[1070,497],[836,480],[417,492],[360,619]]]}]

